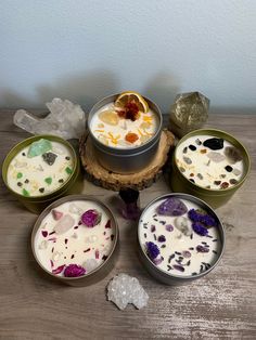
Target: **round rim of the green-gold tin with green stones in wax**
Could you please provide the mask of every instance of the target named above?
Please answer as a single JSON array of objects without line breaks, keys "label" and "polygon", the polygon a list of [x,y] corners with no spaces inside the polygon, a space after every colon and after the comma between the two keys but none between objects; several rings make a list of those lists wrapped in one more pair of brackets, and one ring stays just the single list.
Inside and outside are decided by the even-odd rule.
[{"label": "round rim of the green-gold tin with green stones in wax", "polygon": [[[65,146],[67,146],[73,154],[73,158],[74,158],[74,170],[73,173],[71,174],[71,176],[67,179],[66,182],[64,182],[60,187],[57,187],[56,189],[54,189],[53,192],[50,192],[49,194],[44,194],[44,195],[40,195],[40,196],[23,196],[17,192],[14,192],[8,184],[7,181],[7,175],[8,175],[8,169],[10,166],[11,160],[16,156],[16,154],[22,151],[24,147],[28,146],[30,143],[38,141],[40,139],[49,139],[53,142],[60,142],[62,144],[64,144]],[[15,196],[17,196],[18,198],[22,199],[26,199],[29,201],[43,201],[43,200],[48,200],[51,199],[52,196],[56,197],[59,195],[62,195],[63,191],[65,192],[65,189],[68,187],[68,184],[71,182],[72,179],[77,178],[77,168],[78,168],[78,156],[74,149],[74,147],[72,146],[72,144],[69,142],[67,142],[66,140],[56,136],[56,135],[52,135],[52,134],[38,134],[38,135],[34,135],[30,136],[26,140],[23,140],[22,142],[15,144],[11,151],[8,153],[8,155],[5,156],[4,160],[3,160],[3,165],[2,165],[2,179],[3,182],[5,184],[5,186],[8,187],[8,189],[14,194]]]}]

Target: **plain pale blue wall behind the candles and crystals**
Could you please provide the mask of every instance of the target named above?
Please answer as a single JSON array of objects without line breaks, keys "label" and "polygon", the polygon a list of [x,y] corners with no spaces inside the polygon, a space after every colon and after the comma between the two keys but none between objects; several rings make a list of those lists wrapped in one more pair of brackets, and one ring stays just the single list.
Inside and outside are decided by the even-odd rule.
[{"label": "plain pale blue wall behind the candles and crystals", "polygon": [[256,113],[255,0],[0,0],[0,106],[201,91]]}]

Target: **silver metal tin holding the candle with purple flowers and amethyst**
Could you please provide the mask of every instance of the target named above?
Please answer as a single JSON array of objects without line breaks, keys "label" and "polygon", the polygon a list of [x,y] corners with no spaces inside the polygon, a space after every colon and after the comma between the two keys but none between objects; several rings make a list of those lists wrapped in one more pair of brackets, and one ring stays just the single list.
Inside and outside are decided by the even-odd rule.
[{"label": "silver metal tin holding the candle with purple flowers and amethyst", "polygon": [[215,211],[202,199],[194,197],[192,195],[188,195],[188,194],[180,194],[180,193],[172,193],[172,194],[167,194],[167,195],[163,195],[159,196],[157,198],[155,198],[154,200],[152,200],[143,210],[141,217],[140,217],[140,221],[143,221],[143,217],[146,213],[146,210],[155,202],[161,201],[163,199],[167,199],[169,197],[176,197],[176,198],[180,198],[180,199],[187,199],[191,202],[196,204],[201,209],[204,209],[205,211],[207,211],[209,214],[212,214],[217,221],[218,221],[218,232],[219,232],[219,237],[220,237],[220,252],[218,254],[218,258],[216,260],[215,263],[213,263],[213,265],[205,272],[200,273],[197,275],[193,275],[193,276],[178,276],[178,275],[174,275],[172,273],[167,274],[166,272],[164,272],[162,269],[159,269],[157,265],[155,265],[151,259],[148,257],[143,245],[140,240],[140,234],[139,234],[139,228],[140,228],[140,222],[138,224],[138,243],[139,243],[139,256],[140,259],[142,261],[142,264],[145,266],[145,269],[148,270],[148,272],[154,277],[156,278],[158,282],[166,284],[166,285],[183,285],[183,284],[189,284],[192,280],[199,279],[205,275],[207,275],[209,272],[212,272],[220,262],[220,259],[223,254],[223,250],[225,250],[225,230],[223,230],[223,225],[221,223],[221,221],[219,220],[218,215],[215,213]]}]

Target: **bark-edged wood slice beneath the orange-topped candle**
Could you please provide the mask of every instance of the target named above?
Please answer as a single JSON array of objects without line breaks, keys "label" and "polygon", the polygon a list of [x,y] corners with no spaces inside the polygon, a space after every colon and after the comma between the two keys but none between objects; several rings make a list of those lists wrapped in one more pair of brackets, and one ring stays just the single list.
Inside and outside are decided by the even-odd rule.
[{"label": "bark-edged wood slice beneath the orange-topped candle", "polygon": [[120,188],[143,189],[151,186],[162,174],[163,167],[168,159],[168,154],[175,144],[175,136],[168,130],[163,130],[159,140],[159,147],[152,162],[137,173],[121,174],[114,173],[103,168],[95,158],[91,140],[88,134],[80,139],[79,153],[86,171],[86,178],[95,185],[112,191]]}]

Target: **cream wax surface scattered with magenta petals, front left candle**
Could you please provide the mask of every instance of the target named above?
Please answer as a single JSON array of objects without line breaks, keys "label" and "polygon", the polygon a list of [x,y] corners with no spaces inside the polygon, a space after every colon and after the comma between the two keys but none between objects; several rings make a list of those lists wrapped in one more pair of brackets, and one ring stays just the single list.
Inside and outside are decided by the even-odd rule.
[{"label": "cream wax surface scattered with magenta petals, front left candle", "polygon": [[[54,220],[52,211],[42,220],[35,237],[35,251],[39,263],[49,272],[69,264],[81,265],[86,273],[101,265],[113,248],[115,232],[112,218],[94,201],[74,200],[57,208],[63,217],[74,219],[74,223],[63,234],[55,230],[62,221]],[[81,214],[95,209],[101,221],[93,227],[80,223]],[[107,223],[108,222],[108,223]],[[63,272],[59,275],[63,276]]]}]

